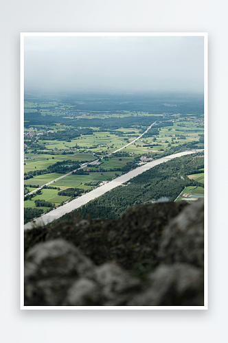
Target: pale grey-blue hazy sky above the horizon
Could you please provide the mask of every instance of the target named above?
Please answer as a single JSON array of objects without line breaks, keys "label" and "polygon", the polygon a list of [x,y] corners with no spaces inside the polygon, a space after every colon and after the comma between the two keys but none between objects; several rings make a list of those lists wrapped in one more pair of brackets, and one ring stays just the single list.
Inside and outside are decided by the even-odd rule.
[{"label": "pale grey-blue hazy sky above the horizon", "polygon": [[203,92],[203,37],[25,37],[25,91]]}]

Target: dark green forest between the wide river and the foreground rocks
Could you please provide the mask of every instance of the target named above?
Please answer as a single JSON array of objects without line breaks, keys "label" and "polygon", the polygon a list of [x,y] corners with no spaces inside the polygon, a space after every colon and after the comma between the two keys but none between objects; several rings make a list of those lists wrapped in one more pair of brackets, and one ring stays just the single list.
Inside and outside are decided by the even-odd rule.
[{"label": "dark green forest between the wide river and the foreground rocks", "polygon": [[[186,186],[201,192],[202,187],[198,187],[198,182],[187,178],[191,170],[201,165],[201,158],[194,158],[191,155],[174,158],[136,176],[126,185],[119,186],[92,200],[73,211],[72,214],[81,219],[89,216],[115,220],[134,204],[146,204],[163,197],[173,201]],[[67,214],[62,218],[66,219],[70,216]]]}]

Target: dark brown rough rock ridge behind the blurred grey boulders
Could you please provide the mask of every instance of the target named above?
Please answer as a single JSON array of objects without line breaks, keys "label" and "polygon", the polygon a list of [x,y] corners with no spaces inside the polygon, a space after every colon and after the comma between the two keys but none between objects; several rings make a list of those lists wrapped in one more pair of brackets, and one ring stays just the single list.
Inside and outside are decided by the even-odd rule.
[{"label": "dark brown rough rock ridge behind the blurred grey boulders", "polygon": [[25,247],[39,241],[62,238],[84,252],[93,263],[115,261],[132,269],[140,261],[157,265],[159,238],[166,224],[187,206],[184,202],[160,202],[133,206],[121,220],[82,220],[60,222],[49,230],[25,231]]}]

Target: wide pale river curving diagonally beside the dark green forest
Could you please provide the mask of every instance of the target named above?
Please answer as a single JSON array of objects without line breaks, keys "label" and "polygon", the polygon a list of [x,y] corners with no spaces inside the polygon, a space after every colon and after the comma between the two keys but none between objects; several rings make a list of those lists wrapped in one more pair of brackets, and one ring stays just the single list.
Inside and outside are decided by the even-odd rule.
[{"label": "wide pale river curving diagonally beside the dark green forest", "polygon": [[122,183],[130,180],[131,178],[134,178],[135,176],[143,173],[144,171],[155,167],[155,165],[159,165],[160,163],[167,162],[171,160],[172,158],[181,157],[187,154],[194,154],[194,152],[201,152],[202,150],[194,150],[194,151],[186,151],[186,152],[179,152],[177,154],[172,154],[170,156],[166,156],[163,158],[159,158],[155,161],[148,162],[145,165],[141,165],[140,167],[137,167],[136,169],[133,169],[131,171],[128,171],[128,173],[119,176],[118,178],[115,178],[114,180],[106,183],[105,185],[102,185],[96,189],[93,189],[93,191],[90,191],[89,193],[84,194],[83,196],[80,196],[79,198],[76,198],[72,200],[71,202],[67,202],[67,204],[62,205],[58,207],[57,209],[54,209],[50,211],[49,213],[45,213],[41,215],[41,217],[36,218],[36,220],[32,222],[28,222],[24,225],[24,229],[30,229],[34,225],[45,225],[53,220],[56,220],[62,215],[65,215],[66,213],[69,213],[75,209],[78,209],[80,206],[87,204],[87,202],[98,198],[99,196],[102,196],[107,191],[111,191],[111,189],[118,187],[119,185],[122,185]]}]

